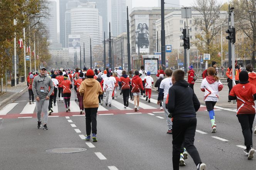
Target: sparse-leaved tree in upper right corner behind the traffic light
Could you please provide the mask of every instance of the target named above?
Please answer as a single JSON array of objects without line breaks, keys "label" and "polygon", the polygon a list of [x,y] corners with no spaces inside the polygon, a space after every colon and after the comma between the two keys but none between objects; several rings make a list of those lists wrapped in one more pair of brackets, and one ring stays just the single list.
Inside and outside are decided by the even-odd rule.
[{"label": "sparse-leaved tree in upper right corner behind the traffic light", "polygon": [[233,0],[235,21],[239,22],[236,30],[242,30],[251,41],[251,61],[255,67],[256,53],[256,0]]}]

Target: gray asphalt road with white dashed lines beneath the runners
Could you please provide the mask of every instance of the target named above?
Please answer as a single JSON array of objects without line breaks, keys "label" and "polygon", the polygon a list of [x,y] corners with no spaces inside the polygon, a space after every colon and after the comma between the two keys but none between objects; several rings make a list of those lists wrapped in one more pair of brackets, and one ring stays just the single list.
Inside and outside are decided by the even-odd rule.
[{"label": "gray asphalt road with white dashed lines beneath the runners", "polygon": [[[153,93],[152,99],[157,99],[156,93]],[[172,135],[166,134],[165,115],[155,113],[162,110],[153,102],[147,103],[141,99],[141,103],[148,108],[141,108],[138,114],[126,114],[135,112],[122,110],[123,105],[120,103],[123,100],[118,97],[115,105],[112,104],[111,108],[104,106],[105,110],[98,112],[99,141],[86,143],[88,141],[82,139],[86,135],[84,115],[79,116],[78,112],[72,110],[66,113],[64,103],[57,102],[58,113],[52,113],[52,116],[58,117],[49,117],[49,130],[37,129],[35,113],[20,114],[27,100],[26,92],[14,102],[18,104],[12,110],[0,115],[0,170],[172,169]],[[129,108],[133,107],[129,103]],[[255,170],[256,158],[247,160],[241,148],[244,139],[236,112],[216,110],[217,131],[211,133],[209,115],[205,110],[205,107],[201,107],[197,112],[199,131],[195,135],[195,146],[207,169]],[[256,143],[255,137],[253,135],[253,143]],[[62,147],[87,150],[79,153],[45,152],[47,149]],[[190,156],[185,163],[186,166],[180,167],[181,170],[196,169]]]}]

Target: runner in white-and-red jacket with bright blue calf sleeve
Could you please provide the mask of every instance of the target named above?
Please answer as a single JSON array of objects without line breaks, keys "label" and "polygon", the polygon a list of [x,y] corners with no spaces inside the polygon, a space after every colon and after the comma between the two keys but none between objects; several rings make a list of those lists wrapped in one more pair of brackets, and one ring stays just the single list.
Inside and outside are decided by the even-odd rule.
[{"label": "runner in white-and-red jacket with bright blue calf sleeve", "polygon": [[201,91],[204,92],[204,101],[209,112],[209,117],[212,123],[212,133],[216,132],[214,106],[219,101],[219,91],[222,90],[223,85],[219,78],[215,75],[215,68],[207,68],[208,76],[204,78],[201,83]]}]

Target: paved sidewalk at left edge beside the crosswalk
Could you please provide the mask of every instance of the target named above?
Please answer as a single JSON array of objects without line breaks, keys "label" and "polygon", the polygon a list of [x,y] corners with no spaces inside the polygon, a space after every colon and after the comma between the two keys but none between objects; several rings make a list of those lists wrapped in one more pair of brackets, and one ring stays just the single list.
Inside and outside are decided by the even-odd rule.
[{"label": "paved sidewalk at left edge beside the crosswalk", "polygon": [[7,85],[7,93],[5,92],[5,85],[3,86],[3,94],[0,93],[0,108],[8,102],[19,98],[27,90],[27,82],[19,82],[17,87],[10,87],[10,84]]}]

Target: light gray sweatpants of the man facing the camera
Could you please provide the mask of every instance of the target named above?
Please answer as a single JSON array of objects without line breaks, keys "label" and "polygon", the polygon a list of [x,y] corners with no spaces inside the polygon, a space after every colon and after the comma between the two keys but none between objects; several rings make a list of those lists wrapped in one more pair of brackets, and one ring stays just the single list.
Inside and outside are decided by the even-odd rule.
[{"label": "light gray sweatpants of the man facing the camera", "polygon": [[49,106],[49,100],[40,99],[39,102],[37,100],[35,101],[35,106],[37,108],[37,120],[41,121],[41,112],[43,110],[44,112],[44,124],[47,124],[48,120],[48,106]]}]

